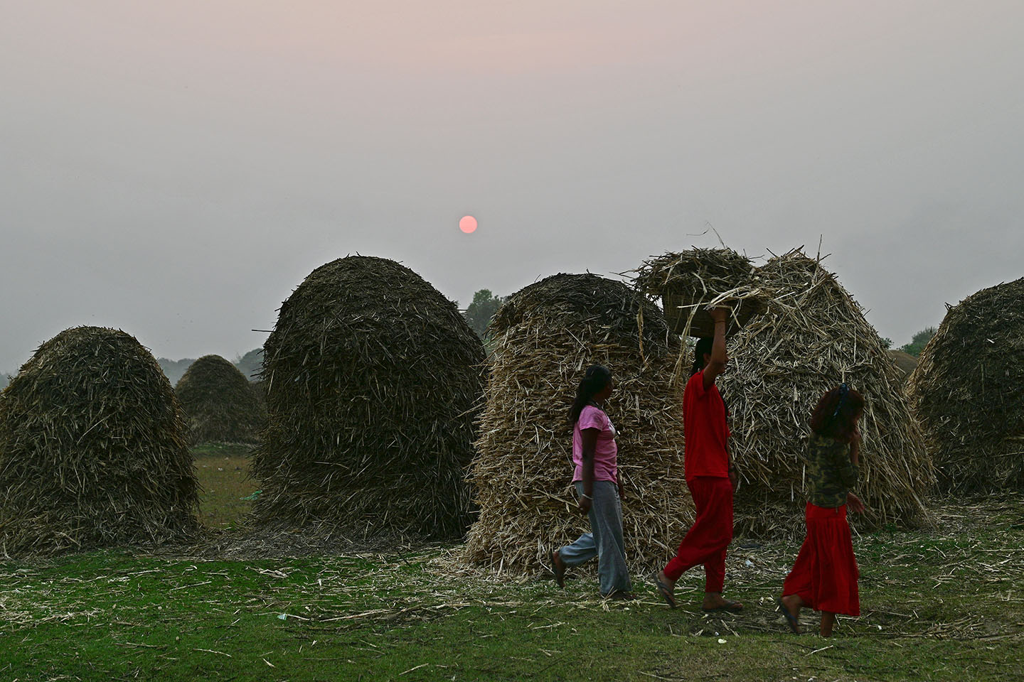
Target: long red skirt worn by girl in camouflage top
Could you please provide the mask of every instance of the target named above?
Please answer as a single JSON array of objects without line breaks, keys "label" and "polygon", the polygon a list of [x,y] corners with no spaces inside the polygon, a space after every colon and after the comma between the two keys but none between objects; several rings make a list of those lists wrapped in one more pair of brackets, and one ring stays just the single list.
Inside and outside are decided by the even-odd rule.
[{"label": "long red skirt worn by girl in camouflage top", "polygon": [[807,537],[785,578],[782,594],[798,594],[811,608],[860,616],[857,559],[846,505],[828,509],[807,503]]}]

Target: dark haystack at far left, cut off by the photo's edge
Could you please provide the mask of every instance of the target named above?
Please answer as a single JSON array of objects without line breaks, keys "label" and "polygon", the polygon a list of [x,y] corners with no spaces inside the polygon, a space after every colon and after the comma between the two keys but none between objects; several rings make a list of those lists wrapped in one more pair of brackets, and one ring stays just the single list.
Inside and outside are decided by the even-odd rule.
[{"label": "dark haystack at far left, cut off by the photo's edge", "polygon": [[174,392],[133,336],[67,329],[0,394],[0,552],[157,543],[197,529]]}]

